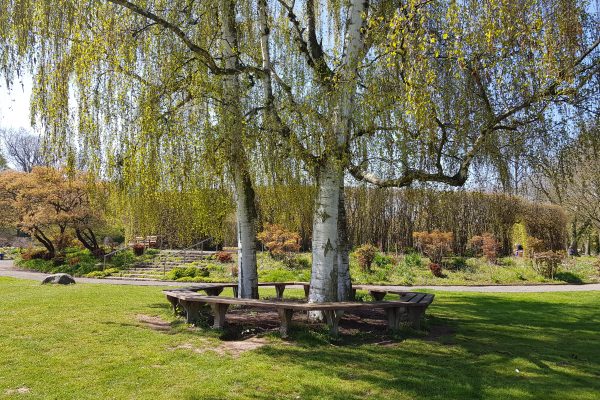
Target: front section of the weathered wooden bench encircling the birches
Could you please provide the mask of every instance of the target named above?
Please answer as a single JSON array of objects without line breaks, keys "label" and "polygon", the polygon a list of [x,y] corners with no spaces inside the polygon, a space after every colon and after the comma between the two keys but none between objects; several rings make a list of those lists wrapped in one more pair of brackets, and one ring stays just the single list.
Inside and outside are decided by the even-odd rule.
[{"label": "front section of the weathered wooden bench encircling the birches", "polygon": [[225,314],[230,305],[242,305],[256,308],[275,309],[280,318],[281,336],[286,337],[289,332],[292,316],[295,311],[322,311],[329,325],[331,334],[337,336],[339,320],[346,311],[383,309],[387,315],[388,329],[398,330],[403,320],[408,320],[411,326],[419,329],[420,320],[425,310],[433,301],[433,294],[405,293],[400,300],[375,301],[375,302],[330,302],[330,303],[304,303],[283,300],[257,300],[238,299],[233,297],[204,296],[191,290],[165,290],[163,293],[173,305],[175,312],[177,306],[185,311],[186,321],[197,321],[200,307],[210,305],[213,315],[213,328],[223,328]]}]

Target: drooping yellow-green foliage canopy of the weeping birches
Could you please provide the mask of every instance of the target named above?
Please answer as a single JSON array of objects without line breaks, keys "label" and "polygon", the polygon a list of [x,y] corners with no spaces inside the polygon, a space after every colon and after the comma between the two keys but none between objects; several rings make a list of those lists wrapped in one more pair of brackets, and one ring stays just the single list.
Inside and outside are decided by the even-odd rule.
[{"label": "drooping yellow-green foliage canopy of the weeping birches", "polygon": [[[240,140],[258,185],[313,182],[332,158],[358,179],[407,186],[464,183],[475,158],[554,115],[598,70],[585,1],[364,2],[354,38],[350,3],[266,1],[265,72],[251,0],[236,2],[235,71],[221,65],[216,0],[0,0],[0,71],[9,83],[33,75],[32,115],[53,151],[114,182],[141,224],[130,229],[147,231],[140,219],[174,215],[152,204],[213,218],[210,201],[190,199],[229,187],[223,76],[241,82]],[[345,68],[351,40],[358,60]]]}]

